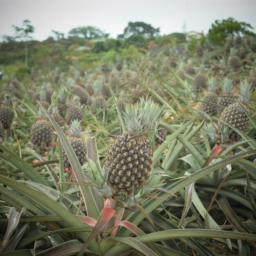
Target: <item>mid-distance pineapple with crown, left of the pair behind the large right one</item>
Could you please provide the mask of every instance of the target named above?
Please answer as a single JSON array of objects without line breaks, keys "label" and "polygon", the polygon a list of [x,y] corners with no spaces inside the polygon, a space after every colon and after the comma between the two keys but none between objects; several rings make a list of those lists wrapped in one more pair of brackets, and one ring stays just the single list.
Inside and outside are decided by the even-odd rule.
[{"label": "mid-distance pineapple with crown, left of the pair behind the large right one", "polygon": [[[214,103],[214,104],[218,104],[218,97],[216,94],[216,84],[217,84],[217,80],[215,77],[211,77],[208,79],[208,92],[207,94],[204,96],[203,101],[207,101],[209,103]],[[209,115],[216,115],[218,112],[218,108],[216,106],[213,106],[209,103],[204,103],[202,102],[201,104],[201,108],[204,112],[207,112],[207,114]]]}]

